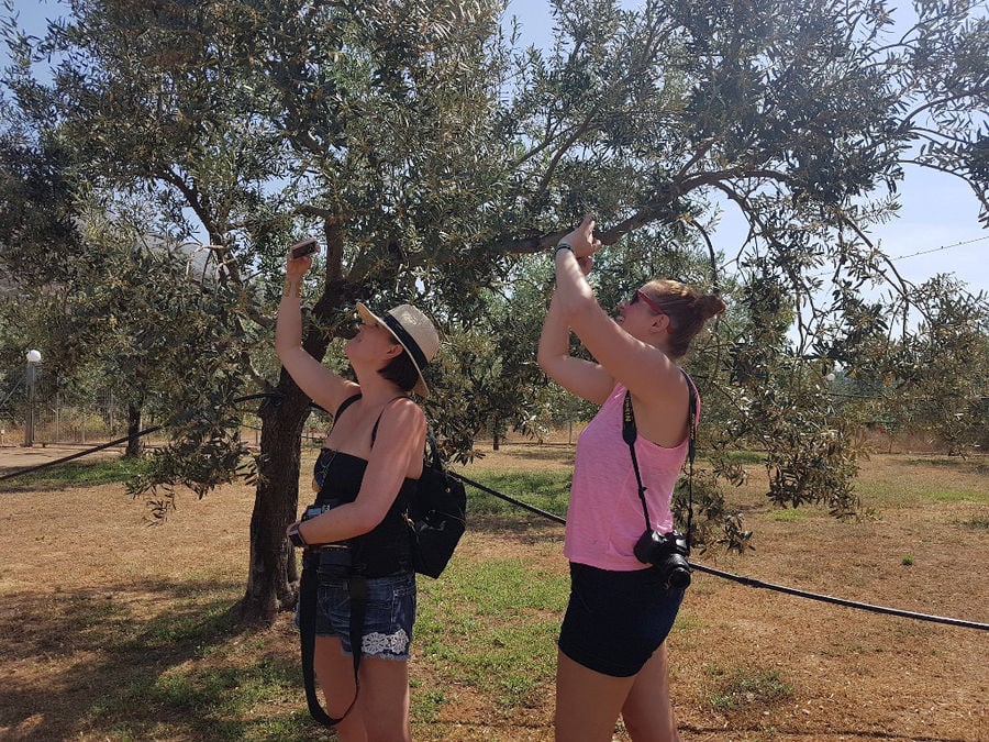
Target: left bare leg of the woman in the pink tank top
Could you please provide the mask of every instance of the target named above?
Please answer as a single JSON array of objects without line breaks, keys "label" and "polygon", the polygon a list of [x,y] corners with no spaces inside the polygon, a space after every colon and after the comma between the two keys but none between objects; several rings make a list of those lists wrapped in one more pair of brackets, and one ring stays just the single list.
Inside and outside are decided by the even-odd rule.
[{"label": "left bare leg of the woman in the pink tank top", "polygon": [[557,742],[611,742],[635,677],[602,675],[556,655]]}]

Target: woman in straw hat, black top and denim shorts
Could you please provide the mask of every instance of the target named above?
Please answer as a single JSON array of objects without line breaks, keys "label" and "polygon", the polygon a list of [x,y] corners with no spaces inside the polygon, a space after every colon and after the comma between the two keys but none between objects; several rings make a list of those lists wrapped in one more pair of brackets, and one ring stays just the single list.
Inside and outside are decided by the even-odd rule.
[{"label": "woman in straw hat, black top and denim shorts", "polygon": [[[301,345],[299,297],[311,265],[308,256],[287,261],[275,348],[299,388],[335,412],[316,463],[322,486],[315,506],[322,514],[292,523],[287,532],[293,544],[307,547],[303,558],[320,564],[313,666],[330,716],[343,717],[336,724],[343,742],[411,740],[408,660],[415,574],[403,514],[422,474],[426,421],[409,395],[429,395],[422,372],[440,340],[414,307],[378,315],[358,303],[362,325],[345,346],[357,381],[332,373]],[[347,580],[323,568],[324,557],[337,553],[347,569],[367,576],[359,694]]]}]

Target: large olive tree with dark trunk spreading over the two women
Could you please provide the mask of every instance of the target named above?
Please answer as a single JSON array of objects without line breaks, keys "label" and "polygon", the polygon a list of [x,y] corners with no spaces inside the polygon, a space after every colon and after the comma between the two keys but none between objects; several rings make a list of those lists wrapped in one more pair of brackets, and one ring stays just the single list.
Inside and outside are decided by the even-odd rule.
[{"label": "large olive tree with dark trunk spreading over the two women", "polygon": [[[764,445],[774,500],[854,510],[854,446],[821,358],[836,356],[873,283],[910,311],[912,287],[868,236],[894,217],[904,166],[965,179],[986,215],[986,21],[966,2],[923,2],[896,30],[881,1],[551,7],[543,49],[485,0],[71,0],[42,40],[7,27],[10,100],[68,153],[65,170],[211,245],[218,311],[244,342],[202,350],[241,368],[203,387],[204,429],[236,447],[218,411],[254,385],[278,394],[259,411],[247,620],[295,601],[282,533],[308,400],[252,351],[270,339],[285,244],[303,233],[324,245],[305,348],[336,348],[355,300],[423,304],[453,344],[429,411],[455,447],[513,400],[536,403],[503,386],[534,378],[534,347],[493,332],[529,337],[537,321],[485,311],[520,261],[589,211],[609,246],[602,268],[677,273],[651,255],[696,242],[705,265],[682,276],[733,304],[691,359],[709,448]],[[29,64],[48,56],[49,82]],[[705,239],[715,200],[747,219],[743,244]],[[622,281],[607,278],[613,301]],[[716,487],[742,472],[715,456],[705,476]],[[737,521],[722,532],[745,535]]]}]

